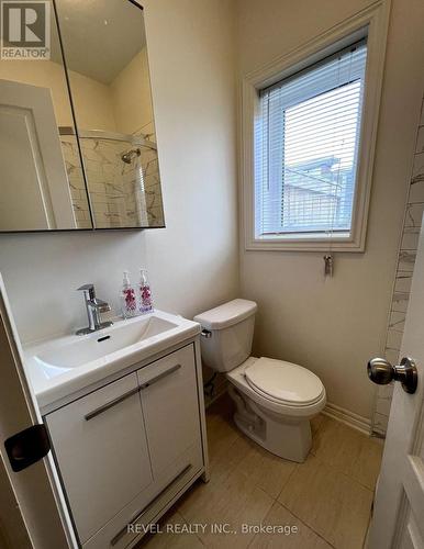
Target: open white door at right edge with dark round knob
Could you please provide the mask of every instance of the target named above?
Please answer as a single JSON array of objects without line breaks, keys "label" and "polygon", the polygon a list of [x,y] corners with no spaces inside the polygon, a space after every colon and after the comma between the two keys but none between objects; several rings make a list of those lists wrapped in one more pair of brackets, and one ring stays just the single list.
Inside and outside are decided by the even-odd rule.
[{"label": "open white door at right edge with dark round knob", "polygon": [[415,362],[417,388],[409,394],[395,382],[369,549],[424,548],[424,225],[401,357]]}]

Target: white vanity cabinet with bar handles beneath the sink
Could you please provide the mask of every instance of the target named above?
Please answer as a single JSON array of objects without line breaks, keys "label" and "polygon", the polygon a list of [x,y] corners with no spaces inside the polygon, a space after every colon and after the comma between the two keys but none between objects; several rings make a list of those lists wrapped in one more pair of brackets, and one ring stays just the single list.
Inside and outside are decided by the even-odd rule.
[{"label": "white vanity cabinet with bar handles beneath the sink", "polygon": [[198,373],[189,344],[45,415],[83,549],[131,547],[127,525],[157,519],[205,472]]}]

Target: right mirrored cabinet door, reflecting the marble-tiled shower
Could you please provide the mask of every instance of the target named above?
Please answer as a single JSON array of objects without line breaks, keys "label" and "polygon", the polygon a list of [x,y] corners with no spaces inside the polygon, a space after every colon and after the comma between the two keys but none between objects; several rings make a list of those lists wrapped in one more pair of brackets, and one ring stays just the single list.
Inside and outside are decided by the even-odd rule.
[{"label": "right mirrored cabinet door, reflecting the marble-tiled shower", "polygon": [[130,0],[56,7],[94,227],[163,227],[143,10]]}]

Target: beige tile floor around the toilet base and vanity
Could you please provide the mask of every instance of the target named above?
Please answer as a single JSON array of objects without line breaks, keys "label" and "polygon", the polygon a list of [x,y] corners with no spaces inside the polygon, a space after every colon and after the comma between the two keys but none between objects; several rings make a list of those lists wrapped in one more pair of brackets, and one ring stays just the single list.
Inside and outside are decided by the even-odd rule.
[{"label": "beige tile floor around the toilet base and vanity", "polygon": [[[242,435],[224,395],[207,414],[211,480],[198,481],[161,522],[164,534],[140,547],[360,549],[364,546],[382,444],[327,416],[312,422],[313,446],[304,463],[272,456]],[[210,525],[231,525],[212,534]],[[166,525],[208,526],[169,534]],[[243,530],[268,525],[271,533]],[[278,528],[291,528],[291,534]],[[196,526],[194,526],[196,528]],[[192,527],[193,529],[193,527]],[[287,531],[287,530],[286,530]]]}]

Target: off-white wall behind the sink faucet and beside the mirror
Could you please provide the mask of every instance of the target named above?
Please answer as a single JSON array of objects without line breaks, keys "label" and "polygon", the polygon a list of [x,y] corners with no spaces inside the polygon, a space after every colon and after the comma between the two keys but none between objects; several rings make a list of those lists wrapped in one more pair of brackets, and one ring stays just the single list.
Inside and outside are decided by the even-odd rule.
[{"label": "off-white wall behind the sink faucet and beside the mirror", "polygon": [[145,18],[167,228],[1,235],[25,340],[83,324],[83,282],[116,306],[123,269],[188,317],[238,293],[233,4],[148,0]]}]

